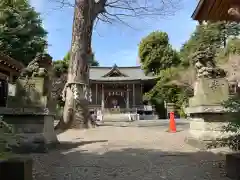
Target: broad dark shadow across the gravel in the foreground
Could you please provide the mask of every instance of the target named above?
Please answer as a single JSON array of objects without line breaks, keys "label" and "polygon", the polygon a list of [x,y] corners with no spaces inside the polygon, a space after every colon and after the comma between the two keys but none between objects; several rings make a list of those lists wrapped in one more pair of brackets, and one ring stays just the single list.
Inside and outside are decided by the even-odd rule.
[{"label": "broad dark shadow across the gravel in the foreground", "polygon": [[[105,140],[103,140],[105,141]],[[107,143],[96,152],[86,144],[62,143],[48,154],[35,154],[35,180],[227,180],[224,156],[211,152],[166,152],[153,149],[117,148]],[[105,141],[106,142],[106,141]],[[71,145],[69,145],[71,144]],[[112,147],[112,146],[111,146]]]}]

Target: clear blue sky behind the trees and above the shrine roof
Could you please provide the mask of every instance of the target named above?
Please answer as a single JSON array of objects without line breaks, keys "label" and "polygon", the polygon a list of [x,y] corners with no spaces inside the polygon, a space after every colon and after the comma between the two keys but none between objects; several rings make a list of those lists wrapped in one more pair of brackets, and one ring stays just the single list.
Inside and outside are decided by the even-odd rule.
[{"label": "clear blue sky behind the trees and above the shrine roof", "polygon": [[[54,60],[62,59],[70,49],[73,8],[57,9],[54,0],[31,0],[41,13],[48,31],[48,51]],[[159,0],[153,0],[159,1]],[[180,1],[180,0],[179,0]],[[179,49],[194,31],[196,22],[191,15],[197,0],[182,0],[181,9],[174,16],[151,19],[128,19],[134,29],[123,24],[98,23],[93,32],[93,51],[101,66],[135,66],[138,63],[138,44],[143,37],[155,30],[168,33],[170,43]]]}]

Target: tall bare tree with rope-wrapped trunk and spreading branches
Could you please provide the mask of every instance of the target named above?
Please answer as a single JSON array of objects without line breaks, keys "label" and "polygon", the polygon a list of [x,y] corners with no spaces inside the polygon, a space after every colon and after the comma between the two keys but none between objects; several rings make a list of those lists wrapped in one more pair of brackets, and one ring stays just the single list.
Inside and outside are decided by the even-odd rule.
[{"label": "tall bare tree with rope-wrapped trunk and spreading branches", "polygon": [[[174,2],[173,2],[174,1]],[[61,1],[69,4],[68,1]],[[66,129],[73,121],[78,127],[88,124],[89,68],[92,57],[91,38],[94,22],[102,20],[111,23],[123,22],[121,17],[166,16],[178,4],[178,0],[163,1],[128,1],[128,0],[75,0],[72,32],[71,58],[68,81],[65,86],[65,107],[63,120],[58,127]],[[115,8],[115,11],[111,11]],[[171,8],[171,9],[170,9]],[[116,13],[112,13],[116,12]],[[75,124],[76,124],[75,123]]]}]

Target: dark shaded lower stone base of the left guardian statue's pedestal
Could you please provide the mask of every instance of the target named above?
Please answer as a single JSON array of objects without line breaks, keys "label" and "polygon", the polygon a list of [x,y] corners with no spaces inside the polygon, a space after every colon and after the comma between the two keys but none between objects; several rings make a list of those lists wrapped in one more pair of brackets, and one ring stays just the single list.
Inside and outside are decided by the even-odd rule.
[{"label": "dark shaded lower stone base of the left guardian statue's pedestal", "polygon": [[8,143],[16,153],[45,153],[48,147],[58,144],[51,115],[4,115],[3,120],[12,126],[19,137],[19,145]]}]

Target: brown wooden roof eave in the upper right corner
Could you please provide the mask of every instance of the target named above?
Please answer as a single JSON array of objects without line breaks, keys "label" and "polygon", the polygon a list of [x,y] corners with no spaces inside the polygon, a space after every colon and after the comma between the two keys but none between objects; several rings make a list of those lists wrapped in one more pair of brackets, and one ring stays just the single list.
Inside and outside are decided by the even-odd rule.
[{"label": "brown wooden roof eave in the upper right corner", "polygon": [[239,18],[229,15],[228,10],[240,7],[239,0],[199,0],[192,14],[192,18],[198,21],[240,21]]}]

